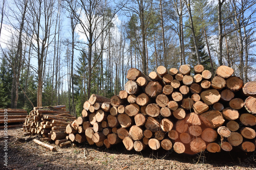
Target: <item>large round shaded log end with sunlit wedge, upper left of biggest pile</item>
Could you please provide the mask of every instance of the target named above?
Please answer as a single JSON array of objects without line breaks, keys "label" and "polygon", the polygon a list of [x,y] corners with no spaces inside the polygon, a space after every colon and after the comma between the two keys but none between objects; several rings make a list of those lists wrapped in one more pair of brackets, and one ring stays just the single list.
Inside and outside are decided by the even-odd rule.
[{"label": "large round shaded log end with sunlit wedge, upper left of biggest pile", "polygon": [[156,81],[149,82],[145,87],[145,93],[152,98],[156,98],[159,94],[162,94],[162,92],[163,87]]}]

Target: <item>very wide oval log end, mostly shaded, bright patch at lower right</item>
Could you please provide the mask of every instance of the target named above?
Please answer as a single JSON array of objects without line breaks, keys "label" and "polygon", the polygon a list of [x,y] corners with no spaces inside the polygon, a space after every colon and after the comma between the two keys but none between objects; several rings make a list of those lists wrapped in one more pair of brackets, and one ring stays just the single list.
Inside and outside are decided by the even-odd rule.
[{"label": "very wide oval log end, mostly shaded, bright patch at lower right", "polygon": [[224,123],[222,113],[217,110],[210,110],[200,115],[202,122],[212,128],[220,127]]}]

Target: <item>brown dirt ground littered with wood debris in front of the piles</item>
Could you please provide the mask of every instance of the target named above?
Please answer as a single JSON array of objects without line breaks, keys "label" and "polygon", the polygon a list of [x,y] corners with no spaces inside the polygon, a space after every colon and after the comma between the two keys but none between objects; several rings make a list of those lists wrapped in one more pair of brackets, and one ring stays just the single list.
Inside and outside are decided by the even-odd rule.
[{"label": "brown dirt ground littered with wood debris in front of the piles", "polygon": [[[0,169],[256,169],[256,151],[250,153],[225,152],[201,155],[158,152],[146,148],[142,152],[127,151],[123,144],[110,149],[82,143],[77,147],[57,146],[48,151],[32,140],[40,136],[24,136],[21,128],[8,129],[8,166],[4,166],[4,130],[0,129]],[[55,143],[49,142],[56,146]],[[253,156],[255,155],[255,156]]]}]

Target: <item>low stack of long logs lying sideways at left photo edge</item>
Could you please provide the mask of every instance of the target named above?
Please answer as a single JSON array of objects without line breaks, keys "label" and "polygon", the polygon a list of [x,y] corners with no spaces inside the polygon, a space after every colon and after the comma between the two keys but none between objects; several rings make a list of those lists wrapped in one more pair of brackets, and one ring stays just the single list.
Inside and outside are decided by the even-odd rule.
[{"label": "low stack of long logs lying sideways at left photo edge", "polygon": [[7,128],[21,127],[26,117],[27,111],[25,109],[0,109],[0,129],[4,128],[5,122],[7,122]]}]

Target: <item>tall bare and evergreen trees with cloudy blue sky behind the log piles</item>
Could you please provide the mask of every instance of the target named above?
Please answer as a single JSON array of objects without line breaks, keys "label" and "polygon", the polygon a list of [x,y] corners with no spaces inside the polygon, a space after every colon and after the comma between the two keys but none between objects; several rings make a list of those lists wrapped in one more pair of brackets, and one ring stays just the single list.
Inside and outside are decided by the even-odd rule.
[{"label": "tall bare and evergreen trees with cloudy blue sky behind the log piles", "polygon": [[[253,0],[1,0],[0,107],[118,95],[126,73],[202,64],[256,80]],[[191,71],[193,74],[193,71]]]}]

